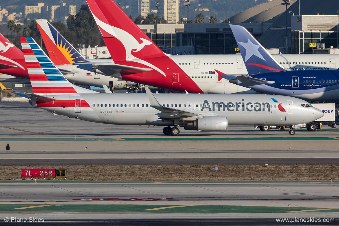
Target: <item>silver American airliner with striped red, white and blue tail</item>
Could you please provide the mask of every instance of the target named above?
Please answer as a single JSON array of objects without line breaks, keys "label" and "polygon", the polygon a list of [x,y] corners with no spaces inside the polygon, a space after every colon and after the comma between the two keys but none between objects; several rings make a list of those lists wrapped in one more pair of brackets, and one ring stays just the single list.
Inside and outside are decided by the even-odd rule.
[{"label": "silver American airliner with striped red, white and blue tail", "polygon": [[[33,106],[71,118],[120,125],[165,126],[165,135],[186,130],[225,131],[228,125],[295,125],[323,116],[307,102],[259,94],[101,94],[68,82],[32,38],[20,38]],[[307,105],[307,107],[306,107]],[[290,134],[294,134],[290,130]]]}]

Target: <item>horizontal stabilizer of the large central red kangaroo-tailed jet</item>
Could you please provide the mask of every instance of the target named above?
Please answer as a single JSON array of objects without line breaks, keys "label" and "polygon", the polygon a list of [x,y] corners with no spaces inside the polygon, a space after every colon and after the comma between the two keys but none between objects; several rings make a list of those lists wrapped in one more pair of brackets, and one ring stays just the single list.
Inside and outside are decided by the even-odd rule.
[{"label": "horizontal stabilizer of the large central red kangaroo-tailed jet", "polygon": [[95,64],[92,66],[92,69],[94,72],[98,70],[108,76],[113,76],[119,73],[130,75],[153,70],[153,68],[133,67],[121,64]]}]

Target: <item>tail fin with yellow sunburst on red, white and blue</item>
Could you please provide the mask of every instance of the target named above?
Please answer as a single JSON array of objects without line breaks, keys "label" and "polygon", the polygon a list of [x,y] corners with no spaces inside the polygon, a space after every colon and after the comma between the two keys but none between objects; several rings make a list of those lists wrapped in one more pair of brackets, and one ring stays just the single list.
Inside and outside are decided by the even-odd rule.
[{"label": "tail fin with yellow sunburst on red, white and blue", "polygon": [[55,65],[87,62],[47,20],[36,20],[49,58]]}]

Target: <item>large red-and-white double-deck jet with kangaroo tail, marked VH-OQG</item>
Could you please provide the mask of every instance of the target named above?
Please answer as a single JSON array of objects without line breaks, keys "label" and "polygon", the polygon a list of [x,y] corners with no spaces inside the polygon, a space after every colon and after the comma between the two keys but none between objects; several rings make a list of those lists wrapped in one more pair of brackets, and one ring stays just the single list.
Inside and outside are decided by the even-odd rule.
[{"label": "large red-and-white double-deck jet with kangaroo tail, marked VH-OQG", "polygon": [[[189,93],[254,93],[221,79],[216,73],[219,70],[247,75],[239,55],[167,55],[112,0],[86,1],[114,61],[96,63],[93,71]],[[291,69],[337,69],[339,62],[339,56],[334,54],[273,57]]]}]

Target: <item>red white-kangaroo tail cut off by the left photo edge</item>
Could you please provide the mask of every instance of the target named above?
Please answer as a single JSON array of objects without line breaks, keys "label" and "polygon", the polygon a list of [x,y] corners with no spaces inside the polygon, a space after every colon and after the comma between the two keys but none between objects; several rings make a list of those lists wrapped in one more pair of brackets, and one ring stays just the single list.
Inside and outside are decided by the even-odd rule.
[{"label": "red white-kangaroo tail cut off by the left photo edge", "polygon": [[0,73],[28,78],[23,53],[0,34]]}]

